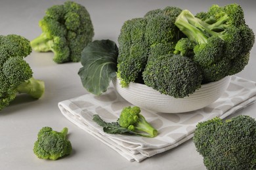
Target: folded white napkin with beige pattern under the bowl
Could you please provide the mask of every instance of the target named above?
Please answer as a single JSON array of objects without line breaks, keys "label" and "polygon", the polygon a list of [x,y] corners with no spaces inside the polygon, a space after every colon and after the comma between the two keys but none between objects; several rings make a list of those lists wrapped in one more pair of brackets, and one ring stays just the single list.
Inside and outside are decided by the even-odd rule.
[{"label": "folded white napkin with beige pattern under the bowl", "polygon": [[106,122],[116,122],[123,107],[131,105],[112,85],[100,96],[85,93],[61,101],[58,107],[68,120],[116,150],[121,156],[129,161],[140,162],[191,139],[198,122],[216,116],[225,118],[255,101],[256,82],[232,76],[226,92],[203,109],[184,113],[161,113],[141,109],[146,120],[158,129],[159,134],[154,138],[104,133],[102,127],[93,122],[93,114],[98,114]]}]

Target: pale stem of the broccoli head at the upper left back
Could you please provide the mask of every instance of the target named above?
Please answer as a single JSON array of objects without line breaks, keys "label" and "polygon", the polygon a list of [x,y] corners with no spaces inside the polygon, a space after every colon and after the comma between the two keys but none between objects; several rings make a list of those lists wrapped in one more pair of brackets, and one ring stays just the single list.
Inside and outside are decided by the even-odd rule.
[{"label": "pale stem of the broccoli head at the upper left back", "polygon": [[53,41],[48,38],[46,33],[41,33],[30,42],[30,45],[36,52],[49,52],[52,50]]}]

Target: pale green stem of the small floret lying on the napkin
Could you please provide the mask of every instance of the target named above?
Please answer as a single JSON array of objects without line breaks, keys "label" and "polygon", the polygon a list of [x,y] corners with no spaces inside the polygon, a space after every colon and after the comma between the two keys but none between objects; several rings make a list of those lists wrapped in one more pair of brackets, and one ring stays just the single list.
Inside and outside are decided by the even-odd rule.
[{"label": "pale green stem of the small floret lying on the napkin", "polygon": [[144,118],[144,116],[142,116],[141,114],[139,114],[139,121],[137,122],[136,126],[135,126],[135,130],[137,131],[144,131],[148,134],[143,134],[143,133],[139,133],[140,135],[144,136],[144,137],[156,137],[156,135],[158,135],[158,131],[152,127]]}]

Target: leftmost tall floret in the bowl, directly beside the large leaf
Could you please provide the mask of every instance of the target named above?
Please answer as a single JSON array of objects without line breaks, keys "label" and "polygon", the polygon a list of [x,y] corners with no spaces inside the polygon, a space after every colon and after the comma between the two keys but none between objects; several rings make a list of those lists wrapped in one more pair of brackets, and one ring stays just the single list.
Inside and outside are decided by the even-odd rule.
[{"label": "leftmost tall floret in the bowl, directly beside the large leaf", "polygon": [[129,20],[121,29],[118,38],[120,44],[117,76],[121,78],[123,87],[127,87],[129,82],[135,82],[146,64],[148,44],[144,41],[145,29],[146,20],[144,18]]}]

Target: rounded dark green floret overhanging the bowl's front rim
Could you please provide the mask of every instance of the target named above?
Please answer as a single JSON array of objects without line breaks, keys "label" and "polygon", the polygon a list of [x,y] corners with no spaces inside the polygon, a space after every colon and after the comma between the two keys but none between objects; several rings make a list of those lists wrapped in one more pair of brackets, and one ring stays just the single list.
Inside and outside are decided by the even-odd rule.
[{"label": "rounded dark green floret overhanging the bowl's front rim", "polygon": [[175,98],[194,93],[202,83],[200,67],[192,59],[174,54],[148,58],[142,76],[146,86]]}]

